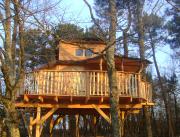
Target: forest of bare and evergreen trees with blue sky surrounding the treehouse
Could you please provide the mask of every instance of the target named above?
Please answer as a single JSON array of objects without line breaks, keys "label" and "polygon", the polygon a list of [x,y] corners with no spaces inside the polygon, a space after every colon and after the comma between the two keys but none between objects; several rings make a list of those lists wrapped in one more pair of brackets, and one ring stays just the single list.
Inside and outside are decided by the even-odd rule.
[{"label": "forest of bare and evergreen trees with blue sky surrounding the treehouse", "polygon": [[[14,130],[11,129],[19,128],[18,114],[12,106],[24,72],[53,61],[60,39],[107,40],[111,26],[110,1],[0,1],[2,134],[10,132],[12,135]],[[152,61],[145,73],[153,84],[156,104],[148,109],[149,127],[144,126],[148,123],[146,110],[127,118],[125,136],[178,137],[180,2],[120,0],[116,2],[116,17],[116,54]],[[107,135],[107,123],[101,119],[99,126],[102,127],[99,132]],[[8,130],[4,132],[3,129]],[[89,128],[86,132],[94,133],[92,130]],[[63,135],[67,136],[69,132],[65,130]],[[25,134],[23,132],[21,136]]]}]

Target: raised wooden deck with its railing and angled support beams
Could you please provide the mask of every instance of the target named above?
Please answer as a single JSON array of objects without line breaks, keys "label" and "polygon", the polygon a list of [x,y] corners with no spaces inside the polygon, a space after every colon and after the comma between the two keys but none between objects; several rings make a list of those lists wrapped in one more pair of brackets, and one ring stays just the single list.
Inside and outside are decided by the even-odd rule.
[{"label": "raised wooden deck with its railing and angled support beams", "polygon": [[[139,73],[117,72],[117,86],[122,121],[126,115],[139,113],[141,108],[154,105],[151,84],[143,81]],[[15,105],[17,109],[30,113],[29,136],[35,134],[40,137],[43,124],[48,118],[53,121],[53,116],[61,121],[65,115],[75,115],[76,118],[80,115],[92,115],[94,118],[100,115],[111,124],[106,71],[43,70],[28,73]],[[51,132],[54,126],[51,122]]]}]

